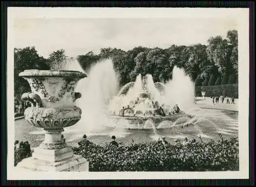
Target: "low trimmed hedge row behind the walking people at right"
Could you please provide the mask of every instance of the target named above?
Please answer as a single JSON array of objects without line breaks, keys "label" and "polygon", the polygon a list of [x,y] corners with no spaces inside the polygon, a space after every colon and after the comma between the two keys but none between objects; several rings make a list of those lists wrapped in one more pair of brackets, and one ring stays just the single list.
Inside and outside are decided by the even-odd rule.
[{"label": "low trimmed hedge row behind the walking people at right", "polygon": [[205,97],[224,95],[238,98],[238,84],[195,87],[195,92],[197,97],[202,96],[201,92],[205,92]]}]

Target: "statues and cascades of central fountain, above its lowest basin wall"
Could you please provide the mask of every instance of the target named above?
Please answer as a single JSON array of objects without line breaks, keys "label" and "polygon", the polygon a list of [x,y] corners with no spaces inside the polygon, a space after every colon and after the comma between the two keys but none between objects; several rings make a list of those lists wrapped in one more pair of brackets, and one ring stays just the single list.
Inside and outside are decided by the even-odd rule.
[{"label": "statues and cascades of central fountain, above its lowest basin wall", "polygon": [[[121,89],[120,92],[126,91],[125,94],[118,94],[116,98],[112,101],[110,105],[112,108],[110,109],[110,112],[112,115],[116,115],[116,113],[119,113],[119,116],[165,116],[166,113],[168,113],[169,106],[161,104],[159,100],[161,98],[161,92],[157,90],[155,87],[156,84],[151,85],[151,88],[154,87],[155,92],[159,94],[158,98],[155,98],[154,94],[152,94],[152,90],[148,88],[148,77],[143,76],[140,79],[137,79],[137,83],[129,83],[127,86],[132,85],[129,89],[125,88]],[[153,82],[153,79],[152,79]],[[160,83],[157,83],[158,85]],[[137,86],[136,86],[137,85]],[[139,85],[139,86],[138,86]],[[162,87],[164,87],[163,84],[161,84]],[[136,87],[136,88],[135,88]],[[130,89],[133,90],[132,94],[130,94]],[[134,90],[137,89],[137,90]],[[163,88],[162,88],[163,89]],[[128,95],[128,96],[127,96]],[[132,96],[131,96],[132,95]],[[117,111],[118,110],[118,111]],[[164,111],[165,110],[165,111]]]}]

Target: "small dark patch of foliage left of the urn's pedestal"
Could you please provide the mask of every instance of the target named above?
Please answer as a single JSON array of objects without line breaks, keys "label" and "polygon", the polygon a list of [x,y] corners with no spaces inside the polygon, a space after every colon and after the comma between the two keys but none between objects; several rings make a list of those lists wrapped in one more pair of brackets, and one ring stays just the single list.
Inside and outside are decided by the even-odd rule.
[{"label": "small dark patch of foliage left of the urn's pedestal", "polygon": [[21,162],[24,158],[32,156],[30,144],[26,142],[20,142],[19,148],[14,148],[14,166]]}]

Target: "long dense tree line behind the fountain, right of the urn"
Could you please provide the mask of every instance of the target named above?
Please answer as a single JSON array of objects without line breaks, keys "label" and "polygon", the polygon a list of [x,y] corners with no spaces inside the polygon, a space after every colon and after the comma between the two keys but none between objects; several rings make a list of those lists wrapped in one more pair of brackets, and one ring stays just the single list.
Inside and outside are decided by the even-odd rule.
[{"label": "long dense tree line behind the fountain, right of the urn", "polygon": [[[227,37],[210,37],[208,45],[171,45],[159,47],[135,47],[124,51],[117,48],[102,48],[99,55],[92,51],[77,57],[84,69],[90,69],[100,59],[111,58],[120,74],[120,85],[135,81],[141,73],[153,75],[155,82],[165,83],[172,78],[174,66],[184,68],[196,81],[197,86],[234,84],[238,74],[238,33],[228,31]],[[231,79],[229,78],[230,76]],[[230,79],[230,80],[229,80]]]}]

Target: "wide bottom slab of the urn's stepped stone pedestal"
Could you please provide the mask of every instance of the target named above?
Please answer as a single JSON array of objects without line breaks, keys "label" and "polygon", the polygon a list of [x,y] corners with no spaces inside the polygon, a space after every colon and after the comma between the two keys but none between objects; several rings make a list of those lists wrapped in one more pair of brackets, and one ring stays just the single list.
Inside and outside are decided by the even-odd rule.
[{"label": "wide bottom slab of the urn's stepped stone pedestal", "polygon": [[89,171],[89,162],[81,155],[73,155],[70,158],[57,162],[42,161],[32,157],[25,158],[17,164],[17,169],[23,171]]}]

